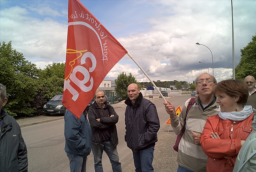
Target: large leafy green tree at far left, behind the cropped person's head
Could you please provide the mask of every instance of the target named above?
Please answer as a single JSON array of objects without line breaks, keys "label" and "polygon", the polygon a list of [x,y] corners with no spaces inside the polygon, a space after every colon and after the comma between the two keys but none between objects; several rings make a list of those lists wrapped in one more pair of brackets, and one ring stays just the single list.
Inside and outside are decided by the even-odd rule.
[{"label": "large leafy green tree at far left, behind the cropped person's head", "polygon": [[15,117],[31,116],[40,106],[35,98],[41,88],[36,65],[13,50],[11,41],[0,43],[0,82],[7,87],[5,110]]}]

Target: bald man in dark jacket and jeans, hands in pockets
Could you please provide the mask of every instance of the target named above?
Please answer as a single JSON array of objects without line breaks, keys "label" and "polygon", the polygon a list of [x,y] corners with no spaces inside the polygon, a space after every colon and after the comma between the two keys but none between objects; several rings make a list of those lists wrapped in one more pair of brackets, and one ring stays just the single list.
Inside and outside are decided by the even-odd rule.
[{"label": "bald man in dark jacket and jeans, hands in pockets", "polygon": [[160,128],[156,106],[143,98],[135,83],[128,86],[127,92],[124,140],[132,150],[135,172],[153,172],[154,147]]}]

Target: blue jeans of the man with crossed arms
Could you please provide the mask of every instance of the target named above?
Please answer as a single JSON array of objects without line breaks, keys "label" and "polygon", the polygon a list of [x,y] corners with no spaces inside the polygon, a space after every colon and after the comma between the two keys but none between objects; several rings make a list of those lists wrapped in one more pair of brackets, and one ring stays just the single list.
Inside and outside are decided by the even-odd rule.
[{"label": "blue jeans of the man with crossed arms", "polygon": [[109,157],[113,172],[122,172],[121,163],[119,163],[117,147],[114,148],[111,141],[100,142],[100,144],[92,144],[92,150],[95,172],[103,172],[101,161],[103,150]]}]

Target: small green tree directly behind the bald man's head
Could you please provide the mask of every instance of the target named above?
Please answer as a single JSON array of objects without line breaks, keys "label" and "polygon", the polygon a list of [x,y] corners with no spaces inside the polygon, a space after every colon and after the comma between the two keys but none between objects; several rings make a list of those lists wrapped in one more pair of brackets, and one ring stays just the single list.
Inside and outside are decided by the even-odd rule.
[{"label": "small green tree directly behind the bald man's head", "polygon": [[128,98],[127,96],[127,87],[131,83],[137,83],[137,80],[132,74],[126,75],[126,73],[122,72],[115,79],[115,91],[117,92],[117,97],[121,97],[122,100]]}]

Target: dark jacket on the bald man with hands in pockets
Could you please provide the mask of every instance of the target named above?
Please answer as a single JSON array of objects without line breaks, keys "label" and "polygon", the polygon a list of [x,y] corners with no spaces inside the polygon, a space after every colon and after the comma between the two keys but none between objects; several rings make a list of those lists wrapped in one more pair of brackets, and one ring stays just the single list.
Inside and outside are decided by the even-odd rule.
[{"label": "dark jacket on the bald man with hands in pockets", "polygon": [[125,110],[125,136],[127,146],[133,151],[150,148],[157,142],[157,132],[160,121],[156,106],[149,100],[143,98],[139,93],[134,107],[128,98],[124,102]]}]

